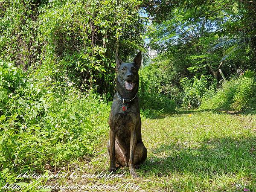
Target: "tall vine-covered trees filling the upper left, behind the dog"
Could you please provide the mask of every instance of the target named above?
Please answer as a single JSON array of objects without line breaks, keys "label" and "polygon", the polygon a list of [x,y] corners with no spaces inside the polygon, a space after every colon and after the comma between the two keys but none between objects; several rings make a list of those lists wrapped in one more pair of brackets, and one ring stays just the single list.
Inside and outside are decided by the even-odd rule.
[{"label": "tall vine-covered trees filling the upper left, behind the dog", "polygon": [[76,79],[81,90],[113,91],[114,53],[125,60],[142,49],[145,20],[137,0],[14,0],[1,5],[0,58],[29,73],[41,67],[60,70]]}]

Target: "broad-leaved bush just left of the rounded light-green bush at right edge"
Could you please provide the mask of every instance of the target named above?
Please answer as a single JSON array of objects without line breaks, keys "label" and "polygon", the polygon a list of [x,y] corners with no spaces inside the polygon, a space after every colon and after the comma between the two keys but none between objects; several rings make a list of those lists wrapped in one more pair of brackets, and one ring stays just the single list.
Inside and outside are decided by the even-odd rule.
[{"label": "broad-leaved bush just left of the rounded light-green bush at right edge", "polygon": [[[180,84],[183,88],[183,107],[197,108],[201,105],[203,96],[205,94],[209,94],[209,92],[215,88],[214,83],[209,86],[208,79],[209,78],[207,76],[201,76],[200,79],[197,77],[192,79],[185,77],[180,80]],[[207,90],[208,87],[209,90]]]}]

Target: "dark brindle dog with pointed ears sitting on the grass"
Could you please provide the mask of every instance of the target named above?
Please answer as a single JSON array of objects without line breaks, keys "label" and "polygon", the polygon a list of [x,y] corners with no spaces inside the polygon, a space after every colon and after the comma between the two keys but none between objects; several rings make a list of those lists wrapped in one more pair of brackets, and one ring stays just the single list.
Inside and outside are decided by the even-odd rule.
[{"label": "dark brindle dog with pointed ears sitting on the grass", "polygon": [[137,96],[140,64],[141,52],[132,63],[124,63],[116,56],[117,92],[108,119],[109,170],[115,172],[116,166],[129,165],[132,177],[137,177],[134,165],[142,163],[147,158],[147,149],[141,139],[140,107]]}]

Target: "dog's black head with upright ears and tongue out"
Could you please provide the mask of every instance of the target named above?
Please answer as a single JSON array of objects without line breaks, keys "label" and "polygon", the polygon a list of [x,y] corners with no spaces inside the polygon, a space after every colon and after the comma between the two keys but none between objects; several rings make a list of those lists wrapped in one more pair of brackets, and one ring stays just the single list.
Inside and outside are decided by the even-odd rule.
[{"label": "dog's black head with upright ears and tongue out", "polygon": [[131,63],[124,63],[116,55],[116,67],[117,67],[117,81],[119,84],[124,85],[126,90],[134,90],[139,85],[139,69],[141,65],[141,51],[134,58]]}]

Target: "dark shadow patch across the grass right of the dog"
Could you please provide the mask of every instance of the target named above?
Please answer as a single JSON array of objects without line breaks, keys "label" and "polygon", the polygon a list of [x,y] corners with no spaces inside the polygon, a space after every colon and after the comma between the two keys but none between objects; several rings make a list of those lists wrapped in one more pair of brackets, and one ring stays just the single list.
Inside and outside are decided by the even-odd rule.
[{"label": "dark shadow patch across the grass right of the dog", "polygon": [[191,146],[162,144],[152,153],[138,170],[145,176],[162,177],[174,172],[199,177],[241,173],[256,180],[256,137],[213,138]]}]

